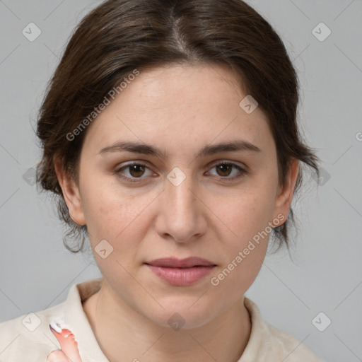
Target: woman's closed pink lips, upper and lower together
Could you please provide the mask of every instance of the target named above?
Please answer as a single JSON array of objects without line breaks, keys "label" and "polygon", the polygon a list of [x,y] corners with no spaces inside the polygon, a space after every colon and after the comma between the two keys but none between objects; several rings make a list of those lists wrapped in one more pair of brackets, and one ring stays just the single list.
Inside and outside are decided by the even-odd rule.
[{"label": "woman's closed pink lips, upper and lower together", "polygon": [[154,274],[168,284],[189,286],[203,279],[216,264],[200,257],[155,259],[145,263]]}]

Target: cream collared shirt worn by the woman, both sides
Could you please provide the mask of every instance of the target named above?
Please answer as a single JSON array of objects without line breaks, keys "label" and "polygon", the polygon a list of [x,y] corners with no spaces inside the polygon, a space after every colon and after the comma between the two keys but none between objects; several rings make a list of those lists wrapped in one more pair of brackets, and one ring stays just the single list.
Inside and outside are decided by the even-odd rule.
[{"label": "cream collared shirt worn by the woman, both sides", "polygon": [[[52,351],[61,349],[49,329],[50,322],[57,322],[74,334],[82,362],[109,362],[82,305],[100,286],[100,278],[74,284],[63,303],[0,323],[0,362],[47,361]],[[265,322],[252,300],[244,297],[243,303],[250,314],[252,329],[238,362],[322,362],[300,341]]]}]

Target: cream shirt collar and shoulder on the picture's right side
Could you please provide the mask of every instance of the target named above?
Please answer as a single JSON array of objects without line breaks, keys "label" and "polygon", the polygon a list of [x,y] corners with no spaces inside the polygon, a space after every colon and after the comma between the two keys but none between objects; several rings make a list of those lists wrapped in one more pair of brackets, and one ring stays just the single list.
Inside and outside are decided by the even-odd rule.
[{"label": "cream shirt collar and shoulder on the picture's right side", "polygon": [[250,313],[252,331],[240,362],[254,361],[249,358],[256,358],[255,361],[323,362],[298,339],[264,321],[252,300],[245,298],[244,303]]}]

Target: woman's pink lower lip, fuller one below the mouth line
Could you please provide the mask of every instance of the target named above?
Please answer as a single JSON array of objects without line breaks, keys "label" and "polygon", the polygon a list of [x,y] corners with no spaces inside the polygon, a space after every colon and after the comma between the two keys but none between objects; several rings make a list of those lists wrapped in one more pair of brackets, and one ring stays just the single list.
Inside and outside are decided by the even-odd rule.
[{"label": "woman's pink lower lip, fuller one below the mouth line", "polygon": [[170,267],[156,267],[154,265],[146,264],[153,273],[167,281],[168,284],[173,286],[189,286],[204,278],[207,274],[214,269],[214,265],[191,267],[191,268],[170,268]]}]

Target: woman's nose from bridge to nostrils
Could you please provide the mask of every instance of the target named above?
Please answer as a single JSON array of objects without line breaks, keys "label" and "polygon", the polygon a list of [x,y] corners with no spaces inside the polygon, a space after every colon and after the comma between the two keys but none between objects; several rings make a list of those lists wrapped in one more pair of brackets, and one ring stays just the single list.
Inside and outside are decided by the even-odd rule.
[{"label": "woman's nose from bridge to nostrils", "polygon": [[162,238],[191,243],[204,235],[207,221],[197,182],[184,170],[170,173],[160,195],[156,228]]}]

